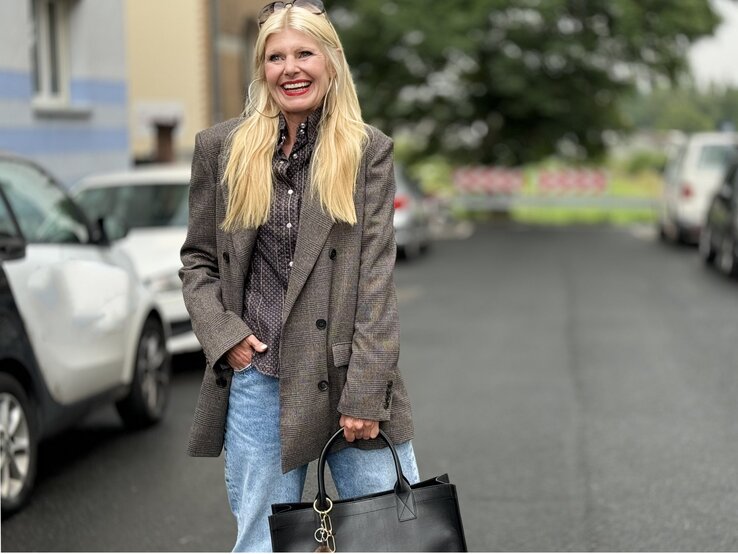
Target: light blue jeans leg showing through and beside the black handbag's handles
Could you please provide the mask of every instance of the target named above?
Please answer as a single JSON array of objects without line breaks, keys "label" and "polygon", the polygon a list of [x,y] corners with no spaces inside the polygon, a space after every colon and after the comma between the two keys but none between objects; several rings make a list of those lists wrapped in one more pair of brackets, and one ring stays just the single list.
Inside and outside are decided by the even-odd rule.
[{"label": "light blue jeans leg showing through and beside the black handbag's handles", "polygon": [[[402,473],[410,484],[420,481],[412,442],[397,444],[395,449],[400,458]],[[395,463],[389,448],[344,448],[328,455],[328,465],[338,495],[342,499],[390,490],[397,481]]]}]

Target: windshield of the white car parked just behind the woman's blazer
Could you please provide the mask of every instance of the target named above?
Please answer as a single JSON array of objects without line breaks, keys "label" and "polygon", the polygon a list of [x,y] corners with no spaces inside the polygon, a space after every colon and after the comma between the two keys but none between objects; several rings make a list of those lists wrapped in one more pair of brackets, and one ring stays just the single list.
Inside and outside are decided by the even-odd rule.
[{"label": "windshield of the white car parked just behind the woman's blazer", "polygon": [[91,218],[114,219],[126,229],[187,226],[187,183],[89,188],[77,200]]}]

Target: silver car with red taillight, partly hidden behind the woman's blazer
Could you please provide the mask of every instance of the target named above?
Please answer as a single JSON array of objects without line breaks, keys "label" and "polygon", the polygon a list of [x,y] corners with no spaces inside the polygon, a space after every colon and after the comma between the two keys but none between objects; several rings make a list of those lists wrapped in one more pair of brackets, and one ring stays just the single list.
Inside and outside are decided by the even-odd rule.
[{"label": "silver car with red taillight, partly hidden behind the woman's blazer", "polygon": [[425,196],[400,164],[395,164],[395,241],[401,257],[414,258],[430,245],[430,216]]}]

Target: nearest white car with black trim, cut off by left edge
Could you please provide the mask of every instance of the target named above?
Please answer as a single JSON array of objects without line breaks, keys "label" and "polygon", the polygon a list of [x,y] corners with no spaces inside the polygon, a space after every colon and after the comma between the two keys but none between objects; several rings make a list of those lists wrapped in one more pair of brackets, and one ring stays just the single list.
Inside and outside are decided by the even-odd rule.
[{"label": "nearest white car with black trim, cut off by left edge", "polygon": [[0,154],[0,493],[33,488],[42,439],[100,402],[140,428],[164,415],[168,326],[100,223],[39,166]]}]

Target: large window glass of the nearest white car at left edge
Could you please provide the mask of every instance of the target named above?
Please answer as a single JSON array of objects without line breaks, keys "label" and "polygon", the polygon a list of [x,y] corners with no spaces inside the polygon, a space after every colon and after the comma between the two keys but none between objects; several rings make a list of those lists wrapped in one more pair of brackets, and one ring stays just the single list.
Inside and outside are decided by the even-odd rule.
[{"label": "large window glass of the nearest white car at left edge", "polygon": [[89,242],[87,225],[79,208],[49,177],[34,167],[0,161],[0,188],[28,242]]}]

